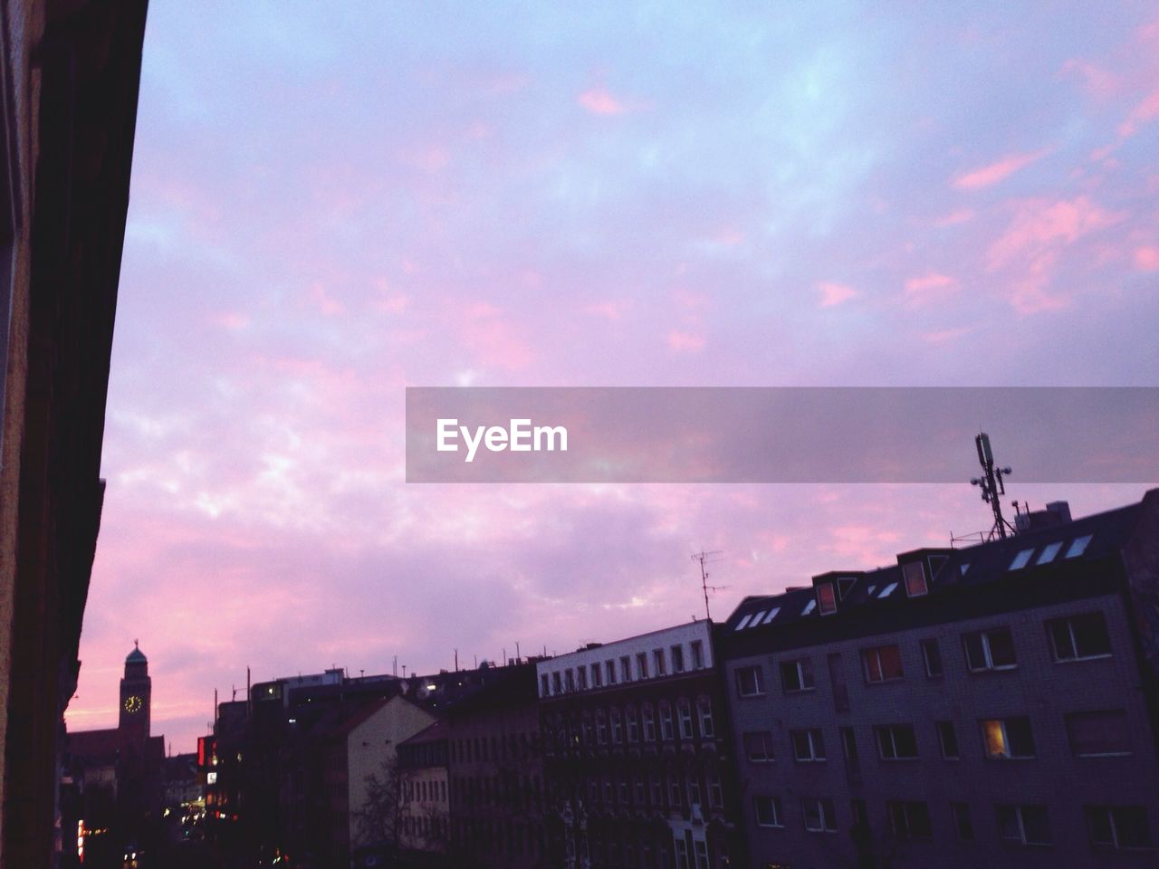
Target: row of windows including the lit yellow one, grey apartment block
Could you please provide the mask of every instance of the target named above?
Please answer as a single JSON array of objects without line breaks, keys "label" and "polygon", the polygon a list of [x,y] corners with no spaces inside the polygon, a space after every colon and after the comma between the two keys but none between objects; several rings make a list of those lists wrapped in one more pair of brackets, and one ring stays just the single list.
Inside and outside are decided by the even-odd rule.
[{"label": "row of windows including the lit yellow one, grey apartment block", "polygon": [[[1130,725],[1125,709],[1095,709],[1063,716],[1071,752],[1077,758],[1125,757],[1132,753]],[[853,728],[840,728],[841,750],[847,760],[858,759]],[[978,722],[983,757],[992,760],[1036,757],[1034,731],[1027,716],[982,718]],[[873,729],[877,757],[882,760],[916,760],[918,735],[913,724],[881,724]],[[962,757],[957,729],[952,721],[933,722],[933,732],[942,758]],[[751,764],[768,764],[777,759],[771,730],[742,733],[745,758]],[[826,759],[825,736],[821,728],[789,730],[793,759],[814,762]]]}]

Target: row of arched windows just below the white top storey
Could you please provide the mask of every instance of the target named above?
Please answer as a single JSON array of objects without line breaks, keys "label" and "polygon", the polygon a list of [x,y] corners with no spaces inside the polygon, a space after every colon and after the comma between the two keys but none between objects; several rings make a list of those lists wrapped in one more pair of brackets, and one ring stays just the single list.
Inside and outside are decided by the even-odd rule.
[{"label": "row of arched windows just below the white top storey", "polygon": [[[675,715],[673,715],[675,711]],[[657,726],[658,725],[658,726]],[[622,709],[585,709],[578,722],[560,716],[556,720],[556,742],[563,747],[591,747],[596,745],[632,745],[640,742],[663,742],[676,739],[712,739],[716,736],[716,724],[713,718],[713,703],[707,696],[697,699],[695,706],[687,698],[680,698],[672,703],[659,701],[655,707],[642,703],[637,714],[636,707],[628,704]]]}]

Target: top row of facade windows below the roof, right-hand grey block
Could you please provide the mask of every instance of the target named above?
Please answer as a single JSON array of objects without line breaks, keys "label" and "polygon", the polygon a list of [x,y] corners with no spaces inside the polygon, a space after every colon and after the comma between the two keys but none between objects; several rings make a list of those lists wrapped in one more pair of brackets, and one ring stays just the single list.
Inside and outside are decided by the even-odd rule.
[{"label": "top row of facade windows below the roof, right-hand grey block", "polygon": [[[1057,663],[1105,658],[1111,653],[1110,635],[1102,613],[1050,619],[1045,622],[1045,629],[1051,655]],[[946,670],[938,640],[923,640],[920,647],[926,677],[942,677]],[[967,670],[971,673],[1013,670],[1018,666],[1014,640],[1006,627],[963,634],[962,651]],[[782,660],[779,671],[781,689],[786,694],[812,691],[816,687],[811,658]],[[901,648],[897,643],[889,643],[862,649],[861,671],[867,685],[903,679],[905,670]],[[759,664],[737,667],[736,687],[742,698],[764,695],[764,669]]]}]

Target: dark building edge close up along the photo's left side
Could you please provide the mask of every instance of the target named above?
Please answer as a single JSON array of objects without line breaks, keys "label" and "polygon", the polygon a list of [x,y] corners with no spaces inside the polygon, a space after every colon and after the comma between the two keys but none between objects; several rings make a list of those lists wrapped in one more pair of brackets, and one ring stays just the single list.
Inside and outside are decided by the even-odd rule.
[{"label": "dark building edge close up along the photo's left side", "polygon": [[[0,8],[0,866],[51,866],[101,444],[145,0]],[[57,856],[53,856],[53,855]]]}]

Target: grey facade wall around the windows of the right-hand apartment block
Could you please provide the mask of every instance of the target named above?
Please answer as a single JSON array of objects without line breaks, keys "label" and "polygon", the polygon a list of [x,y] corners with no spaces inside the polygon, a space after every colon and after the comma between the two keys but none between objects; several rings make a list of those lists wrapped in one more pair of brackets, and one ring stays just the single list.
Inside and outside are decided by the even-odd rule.
[{"label": "grey facade wall around the windows of the right-hand apartment block", "polygon": [[[1001,594],[1003,590],[984,592]],[[1050,619],[1101,612],[1113,653],[1089,660],[1056,663],[1045,622]],[[962,635],[1007,627],[1016,666],[974,673],[965,664]],[[920,642],[939,644],[943,676],[926,674]],[[897,644],[903,678],[870,684],[862,651]],[[781,663],[808,659],[815,687],[786,692]],[[757,666],[764,694],[738,695],[737,671]],[[880,634],[753,655],[728,660],[734,740],[741,768],[745,830],[753,864],[792,863],[799,867],[857,864],[853,840],[853,801],[865,801],[873,846],[879,860],[892,867],[1086,867],[1151,866],[1153,852],[1114,853],[1092,848],[1083,806],[1087,804],[1142,805],[1159,834],[1159,765],[1150,718],[1139,686],[1138,660],[1131,626],[1121,594],[1041,606],[1019,612],[948,622],[924,629]],[[844,682],[844,691],[839,685]],[[847,700],[843,699],[845,695]],[[1125,709],[1130,757],[1076,758],[1064,716],[1099,709]],[[1026,716],[1035,746],[1033,759],[991,760],[985,757],[981,721]],[[943,759],[935,722],[953,722],[960,759]],[[912,724],[916,760],[880,757],[875,725]],[[857,760],[848,757],[840,729],[848,729]],[[790,731],[819,729],[824,761],[797,762]],[[752,762],[744,748],[745,732],[770,731],[775,760]],[[779,827],[760,826],[758,797],[780,801]],[[803,798],[833,801],[833,832],[808,832]],[[928,806],[932,837],[894,835],[887,820],[887,801],[923,801]],[[975,839],[958,838],[952,802],[968,806]],[[1052,845],[1028,847],[999,838],[998,804],[1044,805]],[[882,863],[879,863],[882,864]]]}]

